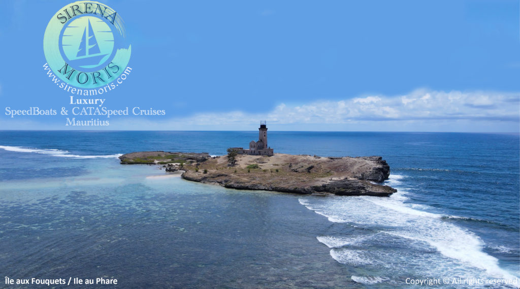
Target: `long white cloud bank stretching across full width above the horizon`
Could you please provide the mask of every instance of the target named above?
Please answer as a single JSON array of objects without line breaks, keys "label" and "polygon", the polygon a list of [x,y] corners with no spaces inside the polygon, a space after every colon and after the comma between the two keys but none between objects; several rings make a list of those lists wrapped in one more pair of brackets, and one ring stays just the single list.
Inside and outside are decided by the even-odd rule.
[{"label": "long white cloud bank stretching across full width above the horizon", "polygon": [[[520,129],[520,93],[414,90],[406,95],[367,95],[305,104],[280,103],[271,111],[168,114],[166,119],[120,117],[112,130],[255,130],[267,120],[272,130],[378,132],[512,132]],[[7,129],[68,129],[63,124],[10,122]]]}]

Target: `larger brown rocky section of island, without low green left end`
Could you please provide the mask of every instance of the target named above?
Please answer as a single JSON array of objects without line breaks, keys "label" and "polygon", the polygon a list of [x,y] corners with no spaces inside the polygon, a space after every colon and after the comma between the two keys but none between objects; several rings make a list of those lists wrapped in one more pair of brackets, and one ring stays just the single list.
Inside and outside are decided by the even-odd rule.
[{"label": "larger brown rocky section of island, without low green left end", "polygon": [[[390,168],[380,156],[314,157],[275,154],[265,160],[249,156],[237,157],[235,168],[225,168],[224,160],[207,161],[201,168],[206,174],[187,170],[187,180],[215,183],[226,188],[266,190],[298,194],[330,193],[336,195],[389,196],[396,192],[380,185],[388,178]],[[251,168],[254,164],[261,164]],[[249,166],[249,168],[248,168]],[[268,169],[267,169],[268,168]]]}]

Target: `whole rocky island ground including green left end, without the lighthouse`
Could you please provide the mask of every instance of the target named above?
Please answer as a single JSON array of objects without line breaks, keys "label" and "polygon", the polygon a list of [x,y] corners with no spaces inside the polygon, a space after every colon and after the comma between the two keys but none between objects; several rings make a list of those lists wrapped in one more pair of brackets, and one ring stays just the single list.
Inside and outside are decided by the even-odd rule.
[{"label": "whole rocky island ground including green left end, without the lighthouse", "polygon": [[241,190],[371,196],[396,192],[380,184],[390,174],[380,156],[237,155],[233,166],[226,155],[207,153],[135,152],[119,159],[121,164],[156,164],[166,172],[183,170],[186,180]]}]

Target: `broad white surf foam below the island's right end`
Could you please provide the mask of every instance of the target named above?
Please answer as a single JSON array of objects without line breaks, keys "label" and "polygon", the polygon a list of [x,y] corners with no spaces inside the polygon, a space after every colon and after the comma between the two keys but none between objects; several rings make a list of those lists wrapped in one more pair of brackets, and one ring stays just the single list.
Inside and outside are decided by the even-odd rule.
[{"label": "broad white surf foam below the island's right end", "polygon": [[[405,176],[394,176],[394,184],[403,178]],[[451,274],[467,278],[515,279],[518,272],[511,273],[501,268],[497,258],[483,251],[485,244],[477,235],[453,224],[441,214],[427,212],[432,211],[430,206],[405,203],[407,198],[399,194],[402,190],[400,183],[397,185],[393,186],[397,187],[398,193],[390,198],[307,196],[301,198],[300,203],[331,222],[378,232],[362,237],[317,237],[319,242],[331,248],[332,258],[342,264],[372,267],[374,270],[388,265],[387,270],[395,273],[417,270],[439,277]],[[374,246],[388,242],[408,249],[404,253],[402,249]],[[362,249],[366,246],[370,249]],[[506,251],[503,246],[495,248]]]}]

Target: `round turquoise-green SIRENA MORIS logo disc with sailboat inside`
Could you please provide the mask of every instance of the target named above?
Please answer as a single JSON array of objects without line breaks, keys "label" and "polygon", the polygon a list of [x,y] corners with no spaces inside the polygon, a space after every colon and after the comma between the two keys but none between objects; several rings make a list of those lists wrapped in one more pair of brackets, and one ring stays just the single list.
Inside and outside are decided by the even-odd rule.
[{"label": "round turquoise-green SIRENA MORIS logo disc with sailboat inside", "polygon": [[78,1],[50,19],[43,48],[49,68],[63,82],[94,88],[109,85],[124,72],[132,47],[114,9]]}]

